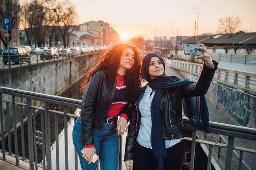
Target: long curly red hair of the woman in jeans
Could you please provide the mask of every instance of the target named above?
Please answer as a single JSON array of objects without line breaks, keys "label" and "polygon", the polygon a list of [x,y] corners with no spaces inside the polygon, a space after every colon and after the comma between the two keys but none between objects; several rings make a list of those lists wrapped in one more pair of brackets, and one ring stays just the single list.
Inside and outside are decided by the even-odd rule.
[{"label": "long curly red hair of the woman in jeans", "polygon": [[142,55],[131,43],[119,43],[113,45],[103,54],[101,54],[100,59],[97,61],[96,65],[89,70],[86,78],[81,83],[80,92],[84,93],[89,78],[99,70],[104,71],[107,76],[109,85],[111,85],[117,75],[118,68],[120,67],[121,56],[126,48],[131,48],[134,52],[134,64],[132,68],[127,70],[126,74],[124,75],[124,83],[127,89],[127,96],[129,96],[130,102],[134,102],[140,94],[139,91],[143,82],[142,76],[140,75],[140,69],[142,67]]}]

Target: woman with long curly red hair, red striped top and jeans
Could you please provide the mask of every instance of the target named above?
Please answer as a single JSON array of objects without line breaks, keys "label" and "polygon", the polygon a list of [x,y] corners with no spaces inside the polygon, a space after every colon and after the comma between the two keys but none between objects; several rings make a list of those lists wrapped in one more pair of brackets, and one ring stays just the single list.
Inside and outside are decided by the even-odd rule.
[{"label": "woman with long curly red hair, red striped top and jeans", "polygon": [[127,131],[127,103],[139,94],[141,61],[133,45],[114,45],[101,55],[81,84],[84,95],[81,116],[73,127],[73,144],[82,169],[96,169],[98,161],[91,163],[94,153],[99,155],[101,170],[118,169],[118,135]]}]

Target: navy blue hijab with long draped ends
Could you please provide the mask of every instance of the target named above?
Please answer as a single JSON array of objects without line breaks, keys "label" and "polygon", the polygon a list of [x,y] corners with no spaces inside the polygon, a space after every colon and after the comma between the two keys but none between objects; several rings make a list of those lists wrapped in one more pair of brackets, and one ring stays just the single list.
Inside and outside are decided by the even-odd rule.
[{"label": "navy blue hijab with long draped ends", "polygon": [[[144,56],[142,64],[142,77],[148,81],[148,86],[153,90],[156,90],[153,97],[150,109],[151,109],[151,145],[153,156],[158,159],[158,169],[163,169],[163,158],[167,157],[167,151],[165,148],[165,141],[163,139],[160,105],[162,100],[162,94],[164,90],[175,89],[180,86],[184,86],[188,83],[193,83],[188,80],[181,80],[175,76],[163,75],[155,79],[151,79],[149,75],[149,64],[152,57],[158,57],[163,64],[165,70],[165,64],[162,57],[158,53],[149,53]],[[205,97],[184,97],[183,107],[185,115],[188,117],[191,125],[203,129],[204,132],[209,132],[209,113]]]}]

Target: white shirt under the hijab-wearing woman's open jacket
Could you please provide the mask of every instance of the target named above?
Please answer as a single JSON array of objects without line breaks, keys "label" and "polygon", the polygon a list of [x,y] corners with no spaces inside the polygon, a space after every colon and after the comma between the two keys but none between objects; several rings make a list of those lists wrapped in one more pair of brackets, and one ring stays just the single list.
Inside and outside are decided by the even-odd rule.
[{"label": "white shirt under the hijab-wearing woman's open jacket", "polygon": [[[155,95],[155,91],[151,94],[152,89],[147,86],[145,89],[145,93],[142,97],[142,100],[139,102],[139,111],[140,114],[142,114],[142,118],[140,120],[140,126],[139,126],[139,133],[138,133],[138,143],[146,148],[152,149],[151,146],[151,126],[152,126],[152,120],[151,120],[151,111],[150,106],[151,102],[153,100],[153,97]],[[173,139],[173,140],[165,140],[165,147],[170,148],[173,145],[179,143],[181,139]]]}]

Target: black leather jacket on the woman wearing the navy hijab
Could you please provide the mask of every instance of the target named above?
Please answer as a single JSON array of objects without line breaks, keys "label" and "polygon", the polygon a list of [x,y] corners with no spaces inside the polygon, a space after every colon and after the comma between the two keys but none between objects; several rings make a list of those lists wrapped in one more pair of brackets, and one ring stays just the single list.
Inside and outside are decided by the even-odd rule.
[{"label": "black leather jacket on the woman wearing the navy hijab", "polygon": [[[182,119],[182,99],[185,96],[199,96],[207,93],[218,63],[213,61],[213,64],[214,68],[203,65],[197,82],[186,84],[175,88],[175,90],[166,90],[163,93],[160,109],[164,140],[178,139],[186,136]],[[140,118],[142,117],[138,110],[138,105],[145,89],[146,87],[143,88],[142,94],[130,108],[130,124],[126,137],[124,161],[133,160],[133,148],[137,142]]]}]

